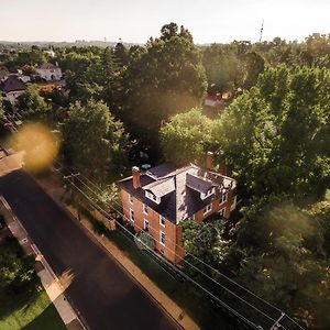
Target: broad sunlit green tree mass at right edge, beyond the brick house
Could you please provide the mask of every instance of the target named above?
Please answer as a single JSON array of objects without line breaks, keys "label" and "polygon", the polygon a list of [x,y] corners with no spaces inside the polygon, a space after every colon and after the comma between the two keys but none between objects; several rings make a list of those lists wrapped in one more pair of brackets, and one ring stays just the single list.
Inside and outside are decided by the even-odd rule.
[{"label": "broad sunlit green tree mass at right edge, beyond the brick house", "polygon": [[267,68],[216,123],[215,144],[250,197],[324,193],[330,74]]}]

